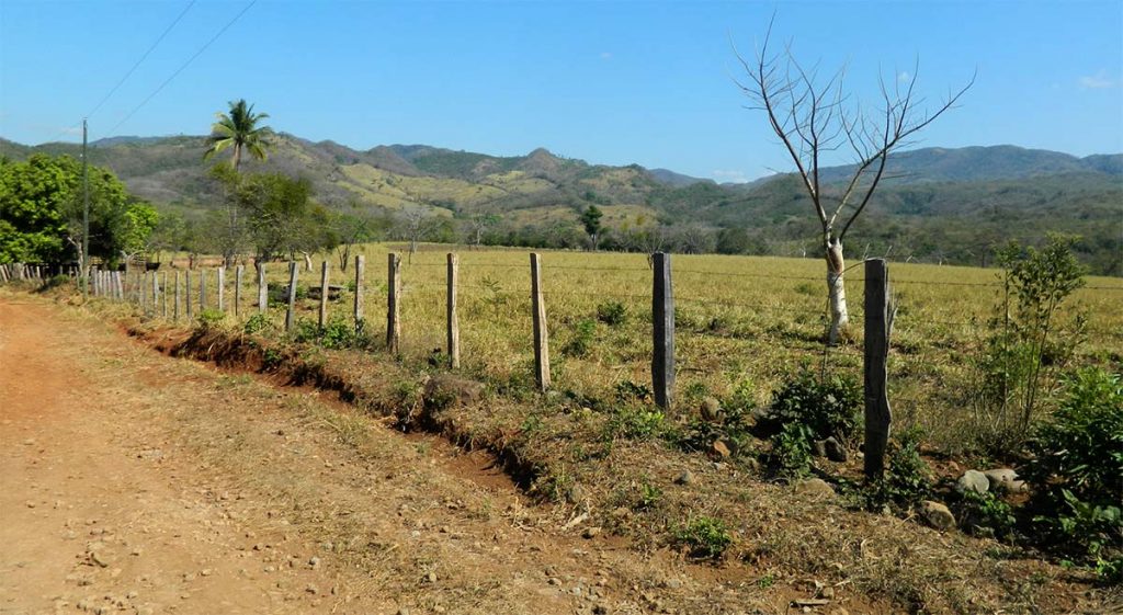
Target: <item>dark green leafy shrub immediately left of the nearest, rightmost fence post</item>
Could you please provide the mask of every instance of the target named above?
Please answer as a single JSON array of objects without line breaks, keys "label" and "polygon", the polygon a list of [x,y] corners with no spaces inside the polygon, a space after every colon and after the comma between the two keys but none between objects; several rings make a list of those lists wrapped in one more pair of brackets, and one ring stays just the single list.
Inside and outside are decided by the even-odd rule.
[{"label": "dark green leafy shrub immediately left of the nearest, rightmost fence post", "polygon": [[804,369],[774,394],[769,420],[804,425],[815,440],[848,439],[858,425],[860,404],[861,388],[855,379],[831,376],[820,380]]}]

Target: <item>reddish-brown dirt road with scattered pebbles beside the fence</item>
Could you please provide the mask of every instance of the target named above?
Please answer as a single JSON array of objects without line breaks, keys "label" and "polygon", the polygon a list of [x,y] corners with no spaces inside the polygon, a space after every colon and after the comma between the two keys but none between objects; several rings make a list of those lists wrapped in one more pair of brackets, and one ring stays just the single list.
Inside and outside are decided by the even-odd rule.
[{"label": "reddish-brown dirt road with scattered pebbles beside the fence", "polygon": [[565,529],[486,457],[103,320],[0,295],[2,614],[784,612]]}]

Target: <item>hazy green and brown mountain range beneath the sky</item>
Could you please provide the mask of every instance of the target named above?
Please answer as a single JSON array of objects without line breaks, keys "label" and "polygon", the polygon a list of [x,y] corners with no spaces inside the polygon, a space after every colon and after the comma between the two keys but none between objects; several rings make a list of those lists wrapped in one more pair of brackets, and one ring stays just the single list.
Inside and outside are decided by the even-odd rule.
[{"label": "hazy green and brown mountain range beneath the sky", "polygon": [[[138,196],[191,218],[220,199],[202,162],[204,148],[204,137],[115,137],[92,143],[90,162],[111,168]],[[0,156],[22,159],[36,152],[76,156],[79,146],[0,139]],[[274,137],[266,162],[244,168],[308,177],[318,200],[334,208],[496,214],[510,242],[524,242],[520,229],[575,226],[588,205],[603,210],[606,226],[621,235],[656,226],[714,237],[736,231],[743,249],[733,251],[802,254],[818,236],[810,201],[792,174],[718,184],[665,168],[590,164],[544,148],[526,156],[429,145],[359,150],[286,134]],[[851,172],[827,167],[821,181],[837,184]],[[930,147],[896,154],[888,176],[851,244],[878,254],[893,246],[922,260],[985,264],[996,244],[1038,242],[1054,230],[1083,236],[1077,249],[1096,272],[1123,274],[1123,154]],[[712,241],[701,246],[713,248]]]}]

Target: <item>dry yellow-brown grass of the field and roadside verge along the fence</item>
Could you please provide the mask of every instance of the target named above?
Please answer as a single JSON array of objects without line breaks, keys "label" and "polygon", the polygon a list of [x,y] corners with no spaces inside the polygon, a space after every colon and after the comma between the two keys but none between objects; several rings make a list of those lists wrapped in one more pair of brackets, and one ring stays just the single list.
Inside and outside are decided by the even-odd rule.
[{"label": "dry yellow-brown grass of the field and roadside verge along the fence", "polygon": [[[626,388],[649,383],[651,275],[643,256],[545,255],[555,391],[539,396],[531,375],[527,254],[460,251],[460,375],[486,386],[482,396],[462,395],[455,386],[447,398],[426,394],[426,383],[445,370],[439,351],[447,248],[428,247],[413,255],[412,264],[403,258],[399,357],[380,349],[391,248],[362,250],[374,338],[368,351],[276,343],[280,306],[271,309],[265,329],[244,336],[244,322],[256,312],[249,275],[239,322],[227,315],[190,339],[159,321],[138,333],[167,351],[334,388],[374,415],[394,417],[399,428],[439,432],[465,449],[489,450],[522,488],[553,506],[559,523],[581,518],[626,536],[636,549],[681,548],[676,536],[692,522],[723,522],[732,538],[723,566],[740,571],[742,591],[776,579],[813,578],[856,598],[889,600],[912,612],[1093,613],[1117,604],[1113,590],[1092,589],[1088,573],[1063,570],[1040,553],[860,512],[852,479],[859,460],[820,462],[839,492],[823,498],[769,479],[752,456],[712,462],[646,433],[643,415],[626,415],[619,407],[622,383]],[[350,268],[339,273],[337,265],[332,261],[335,283],[354,275]],[[271,284],[284,283],[283,268],[271,265]],[[301,286],[319,284],[316,269],[301,272]],[[675,256],[678,403],[656,422],[683,428],[706,395],[727,400],[748,392],[764,405],[776,385],[803,365],[821,369],[825,361],[831,373],[860,379],[861,267],[848,274],[852,330],[825,355],[821,269],[811,259]],[[973,417],[961,394],[969,357],[996,301],[995,274],[903,264],[892,265],[889,273],[900,305],[889,376],[898,425],[923,428],[930,450],[958,453],[970,446],[964,434]],[[209,276],[211,284],[214,279]],[[210,302],[214,294],[208,293]],[[1063,318],[1077,310],[1089,315],[1080,362],[1120,370],[1121,296],[1123,283],[1112,278],[1089,278],[1088,287],[1077,292]],[[349,322],[350,300],[345,293],[332,303],[334,319]],[[620,313],[604,308],[613,302],[623,308],[622,321],[605,318],[605,312]],[[318,301],[299,305],[300,319],[314,322]],[[582,346],[582,338],[585,348],[578,351],[574,345]],[[693,478],[678,480],[684,471]]]}]

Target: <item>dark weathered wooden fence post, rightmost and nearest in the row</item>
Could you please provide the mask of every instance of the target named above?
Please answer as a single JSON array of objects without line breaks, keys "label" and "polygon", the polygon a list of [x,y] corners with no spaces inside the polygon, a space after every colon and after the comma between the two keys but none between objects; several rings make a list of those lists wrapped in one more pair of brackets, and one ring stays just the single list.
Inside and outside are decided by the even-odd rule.
[{"label": "dark weathered wooden fence post, rightmost and nearest in the row", "polygon": [[866,260],[866,349],[864,360],[866,393],[865,470],[867,480],[877,480],[885,472],[885,449],[889,441],[893,413],[886,391],[889,355],[889,331],[893,312],[889,306],[889,272],[884,258]]}]

